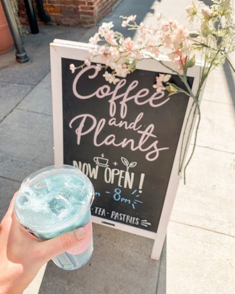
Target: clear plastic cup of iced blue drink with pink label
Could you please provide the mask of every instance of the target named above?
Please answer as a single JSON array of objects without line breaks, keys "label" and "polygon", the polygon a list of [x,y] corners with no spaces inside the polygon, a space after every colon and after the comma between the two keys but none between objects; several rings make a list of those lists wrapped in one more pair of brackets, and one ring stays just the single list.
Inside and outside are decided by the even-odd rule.
[{"label": "clear plastic cup of iced blue drink with pink label", "polygon": [[83,226],[86,237],[52,260],[64,270],[83,266],[93,253],[90,206],[94,188],[78,168],[52,165],[29,175],[14,201],[14,215],[24,229],[42,240]]}]

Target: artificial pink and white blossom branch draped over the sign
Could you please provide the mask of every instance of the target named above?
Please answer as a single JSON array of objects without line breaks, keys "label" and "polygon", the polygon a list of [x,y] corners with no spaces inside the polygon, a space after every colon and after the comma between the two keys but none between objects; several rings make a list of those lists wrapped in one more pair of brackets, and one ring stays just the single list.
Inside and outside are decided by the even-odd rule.
[{"label": "artificial pink and white blossom branch draped over the sign", "polygon": [[[120,16],[122,18],[122,27],[128,30],[136,30],[137,40],[130,37],[125,38],[120,32],[114,31],[113,23],[104,22],[89,39],[93,48],[90,49],[90,56],[84,62],[84,65],[90,65],[92,59],[96,56],[101,57],[105,66],[97,65],[96,69],[105,69],[103,77],[109,83],[116,84],[120,78],[126,77],[135,71],[136,64],[144,59],[153,59],[161,64],[171,74],[176,74],[183,83],[184,88],[173,83],[171,74],[158,74],[156,83],[153,87],[156,91],[166,90],[168,96],[182,92],[193,99],[192,106],[186,118],[186,124],[183,130],[179,173],[182,171],[186,154],[186,148],[189,144],[189,137],[185,138],[186,130],[189,128],[189,134],[196,116],[198,121],[194,137],[193,149],[188,161],[184,167],[185,170],[191,160],[197,140],[198,128],[201,120],[199,95],[208,75],[225,60],[228,61],[232,70],[235,68],[229,60],[229,54],[235,51],[235,23],[232,18],[231,0],[212,0],[213,4],[209,6],[196,7],[193,2],[191,6],[186,7],[189,22],[194,20],[200,23],[200,28],[195,33],[190,33],[188,29],[175,20],[167,20],[161,13],[157,13],[154,24],[145,25],[143,22],[137,24],[136,15]],[[202,59],[200,68],[199,84],[196,93],[193,93],[187,79],[187,71],[195,65],[195,55],[199,52]],[[165,55],[169,63],[159,58]],[[76,68],[71,65],[72,73],[82,68],[84,65]],[[192,117],[192,120],[190,118]],[[190,126],[188,126],[190,122]],[[184,150],[183,150],[184,148]]]}]

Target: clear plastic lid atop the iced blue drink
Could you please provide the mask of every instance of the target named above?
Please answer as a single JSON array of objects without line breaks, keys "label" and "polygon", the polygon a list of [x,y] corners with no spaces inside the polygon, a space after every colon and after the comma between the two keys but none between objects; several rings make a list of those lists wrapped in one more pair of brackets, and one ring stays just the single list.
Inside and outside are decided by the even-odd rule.
[{"label": "clear plastic lid atop the iced blue drink", "polygon": [[14,214],[30,232],[54,232],[78,221],[90,209],[93,197],[93,185],[77,167],[52,165],[23,180]]}]

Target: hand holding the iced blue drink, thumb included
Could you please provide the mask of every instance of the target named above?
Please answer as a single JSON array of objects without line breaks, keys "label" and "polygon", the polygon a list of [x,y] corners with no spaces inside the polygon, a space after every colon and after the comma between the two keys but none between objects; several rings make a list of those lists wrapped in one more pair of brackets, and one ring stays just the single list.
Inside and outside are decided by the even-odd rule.
[{"label": "hand holding the iced blue drink, thumb included", "polygon": [[46,262],[78,245],[86,235],[79,227],[50,240],[36,238],[15,219],[16,194],[0,223],[0,294],[22,294]]}]

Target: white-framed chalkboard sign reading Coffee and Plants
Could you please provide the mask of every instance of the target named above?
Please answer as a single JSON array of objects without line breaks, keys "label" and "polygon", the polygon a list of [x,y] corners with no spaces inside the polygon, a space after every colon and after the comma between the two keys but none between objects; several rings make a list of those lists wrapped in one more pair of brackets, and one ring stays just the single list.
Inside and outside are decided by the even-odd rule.
[{"label": "white-framed chalkboard sign reading Coffee and Plants", "polygon": [[[92,181],[93,221],[156,239],[152,257],[157,259],[178,185],[177,153],[192,99],[156,92],[156,75],[169,72],[153,61],[116,85],[105,81],[96,63],[72,73],[70,64],[79,67],[87,56],[87,44],[51,44],[55,163],[74,165]],[[193,90],[196,74],[188,76]],[[183,86],[177,75],[171,82]]]}]

